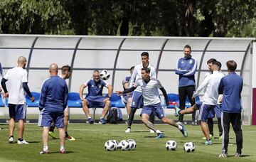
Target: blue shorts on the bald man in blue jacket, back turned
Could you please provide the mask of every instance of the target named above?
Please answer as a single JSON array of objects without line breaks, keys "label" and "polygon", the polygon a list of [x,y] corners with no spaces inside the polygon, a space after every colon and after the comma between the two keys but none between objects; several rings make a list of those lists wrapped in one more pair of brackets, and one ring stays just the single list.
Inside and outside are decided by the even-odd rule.
[{"label": "blue shorts on the bald man in blue jacket, back turned", "polygon": [[50,128],[53,122],[57,128],[64,127],[64,109],[47,109],[46,107],[40,112],[38,126]]}]

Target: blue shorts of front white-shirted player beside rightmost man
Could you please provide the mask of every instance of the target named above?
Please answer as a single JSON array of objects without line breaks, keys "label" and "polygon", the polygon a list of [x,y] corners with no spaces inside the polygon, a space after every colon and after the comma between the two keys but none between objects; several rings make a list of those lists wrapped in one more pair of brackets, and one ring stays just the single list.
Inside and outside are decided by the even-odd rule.
[{"label": "blue shorts of front white-shirted player beside rightmost man", "polygon": [[199,109],[199,121],[207,121],[208,114],[211,110],[214,109],[215,105],[203,104],[203,102],[199,102],[196,104],[197,109]]}]

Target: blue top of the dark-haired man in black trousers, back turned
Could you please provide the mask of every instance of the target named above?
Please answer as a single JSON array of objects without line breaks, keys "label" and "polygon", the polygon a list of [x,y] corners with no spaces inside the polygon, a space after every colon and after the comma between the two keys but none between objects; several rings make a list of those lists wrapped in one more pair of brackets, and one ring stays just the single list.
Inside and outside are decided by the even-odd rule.
[{"label": "blue top of the dark-haired man in black trousers, back turned", "polygon": [[230,72],[220,80],[218,92],[223,94],[222,112],[241,112],[242,77]]}]

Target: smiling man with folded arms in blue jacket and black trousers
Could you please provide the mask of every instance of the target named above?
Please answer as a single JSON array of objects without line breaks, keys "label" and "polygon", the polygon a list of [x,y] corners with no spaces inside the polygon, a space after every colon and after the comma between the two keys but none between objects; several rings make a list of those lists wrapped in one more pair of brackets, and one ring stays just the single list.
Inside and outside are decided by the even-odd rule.
[{"label": "smiling man with folded arms in blue jacket and black trousers", "polygon": [[[196,90],[195,73],[197,62],[191,56],[191,47],[185,45],[184,57],[179,58],[176,63],[175,73],[178,75],[178,99],[180,109],[185,109],[186,97],[188,96],[191,105],[195,104],[192,99],[193,92]],[[196,111],[192,114],[192,122],[196,124]],[[183,115],[178,117],[178,121],[183,122]]]}]

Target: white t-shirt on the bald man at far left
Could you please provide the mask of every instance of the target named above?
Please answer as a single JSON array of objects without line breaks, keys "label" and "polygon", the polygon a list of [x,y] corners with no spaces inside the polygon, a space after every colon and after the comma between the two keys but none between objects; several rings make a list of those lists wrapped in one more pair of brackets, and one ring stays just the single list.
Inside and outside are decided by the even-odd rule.
[{"label": "white t-shirt on the bald man at far left", "polygon": [[23,90],[23,82],[28,82],[27,71],[21,67],[12,68],[7,71],[4,78],[8,80],[9,86],[7,87],[9,92],[9,104],[24,104],[25,91]]}]

